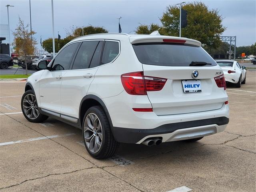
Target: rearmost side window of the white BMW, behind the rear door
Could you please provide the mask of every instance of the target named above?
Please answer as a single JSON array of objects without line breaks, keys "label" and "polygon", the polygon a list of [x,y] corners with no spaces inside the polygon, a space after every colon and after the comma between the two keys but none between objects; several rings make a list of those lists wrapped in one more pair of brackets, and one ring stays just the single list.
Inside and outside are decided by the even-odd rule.
[{"label": "rearmost side window of the white BMW, behind the rear door", "polygon": [[106,41],[102,53],[101,64],[112,62],[119,54],[119,44],[115,41]]}]

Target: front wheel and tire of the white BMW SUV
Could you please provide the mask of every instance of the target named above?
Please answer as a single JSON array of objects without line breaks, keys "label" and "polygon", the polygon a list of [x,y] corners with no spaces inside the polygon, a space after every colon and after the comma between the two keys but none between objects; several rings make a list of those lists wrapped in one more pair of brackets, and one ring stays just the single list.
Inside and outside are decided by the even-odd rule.
[{"label": "front wheel and tire of the white BMW SUV", "polygon": [[32,90],[27,90],[21,98],[21,110],[25,118],[33,123],[43,122],[48,116],[39,112],[36,96]]}]

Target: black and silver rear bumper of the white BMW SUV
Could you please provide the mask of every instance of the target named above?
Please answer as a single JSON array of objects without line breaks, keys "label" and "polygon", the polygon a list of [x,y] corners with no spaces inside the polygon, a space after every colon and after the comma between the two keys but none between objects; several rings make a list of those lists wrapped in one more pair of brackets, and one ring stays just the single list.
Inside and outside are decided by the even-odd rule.
[{"label": "black and silver rear bumper of the white BMW SUV", "polygon": [[112,133],[118,142],[140,144],[147,138],[162,137],[162,142],[185,140],[222,132],[229,122],[227,117],[216,117],[187,122],[170,123],[154,129],[113,127]]}]

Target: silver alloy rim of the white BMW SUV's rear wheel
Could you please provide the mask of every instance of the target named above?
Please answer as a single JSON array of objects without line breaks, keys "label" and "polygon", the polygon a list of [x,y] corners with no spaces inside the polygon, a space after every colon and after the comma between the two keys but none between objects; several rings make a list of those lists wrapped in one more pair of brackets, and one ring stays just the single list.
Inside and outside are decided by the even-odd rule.
[{"label": "silver alloy rim of the white BMW SUV's rear wheel", "polygon": [[84,140],[87,148],[92,153],[96,153],[102,146],[102,126],[98,116],[90,113],[84,122]]}]

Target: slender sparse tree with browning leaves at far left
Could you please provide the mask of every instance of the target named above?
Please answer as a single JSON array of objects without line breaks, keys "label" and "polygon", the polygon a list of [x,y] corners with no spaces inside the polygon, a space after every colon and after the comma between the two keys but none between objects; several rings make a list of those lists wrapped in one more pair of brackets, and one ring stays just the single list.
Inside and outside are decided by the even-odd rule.
[{"label": "slender sparse tree with browning leaves at far left", "polygon": [[26,65],[26,75],[28,74],[28,55],[34,54],[36,39],[31,35],[36,34],[36,32],[29,30],[29,25],[24,24],[24,21],[19,17],[19,22],[17,28],[13,32],[14,42],[13,44],[16,47],[16,52],[20,55],[20,58],[24,60]]}]

